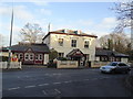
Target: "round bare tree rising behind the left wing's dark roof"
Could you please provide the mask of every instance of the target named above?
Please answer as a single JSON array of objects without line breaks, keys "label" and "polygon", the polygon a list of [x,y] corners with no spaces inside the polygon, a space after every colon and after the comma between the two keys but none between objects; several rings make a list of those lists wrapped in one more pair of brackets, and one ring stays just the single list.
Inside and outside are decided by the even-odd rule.
[{"label": "round bare tree rising behind the left wing's dark roof", "polygon": [[42,28],[40,28],[39,24],[27,23],[23,29],[20,30],[20,34],[22,37],[22,42],[37,43],[42,42],[42,35],[44,33],[42,32]]}]

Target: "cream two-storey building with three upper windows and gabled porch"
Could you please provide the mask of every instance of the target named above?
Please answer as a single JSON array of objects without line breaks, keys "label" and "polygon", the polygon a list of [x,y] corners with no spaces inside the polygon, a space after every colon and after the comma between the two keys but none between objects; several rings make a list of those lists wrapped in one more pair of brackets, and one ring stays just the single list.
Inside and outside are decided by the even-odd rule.
[{"label": "cream two-storey building with three upper windows and gabled porch", "polygon": [[80,62],[95,59],[95,40],[98,36],[81,31],[58,30],[43,37],[50,48],[58,52],[59,57],[70,57]]}]

